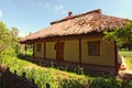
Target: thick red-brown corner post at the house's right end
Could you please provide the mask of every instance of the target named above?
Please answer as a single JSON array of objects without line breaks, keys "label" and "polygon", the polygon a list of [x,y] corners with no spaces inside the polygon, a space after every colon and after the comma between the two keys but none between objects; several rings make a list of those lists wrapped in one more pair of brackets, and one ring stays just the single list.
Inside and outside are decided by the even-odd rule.
[{"label": "thick red-brown corner post at the house's right end", "polygon": [[119,72],[119,66],[118,66],[118,47],[117,47],[117,42],[114,41],[114,75],[118,75]]}]

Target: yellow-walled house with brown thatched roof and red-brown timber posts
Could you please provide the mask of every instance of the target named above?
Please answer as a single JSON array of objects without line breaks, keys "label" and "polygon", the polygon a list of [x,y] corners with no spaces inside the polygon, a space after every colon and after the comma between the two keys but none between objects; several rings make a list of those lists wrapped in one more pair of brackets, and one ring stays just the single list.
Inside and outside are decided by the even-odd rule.
[{"label": "yellow-walled house with brown thatched roof and red-brown timber posts", "polygon": [[123,28],[128,19],[110,16],[94,10],[68,15],[51,22],[44,28],[21,40],[22,44],[33,44],[33,58],[50,59],[78,65],[95,66],[118,70],[118,52],[114,41],[105,40],[103,31]]}]

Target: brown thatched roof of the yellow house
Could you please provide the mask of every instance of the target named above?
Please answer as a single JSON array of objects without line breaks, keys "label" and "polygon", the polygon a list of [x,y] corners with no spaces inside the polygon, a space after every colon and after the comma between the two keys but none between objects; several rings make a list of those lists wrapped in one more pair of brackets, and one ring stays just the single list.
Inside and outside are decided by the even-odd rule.
[{"label": "brown thatched roof of the yellow house", "polygon": [[64,36],[87,34],[89,32],[101,32],[103,30],[113,30],[123,28],[130,20],[101,14],[101,10],[94,10],[78,15],[68,15],[65,19],[51,22],[51,25],[37,31],[21,42],[36,40],[48,36]]}]

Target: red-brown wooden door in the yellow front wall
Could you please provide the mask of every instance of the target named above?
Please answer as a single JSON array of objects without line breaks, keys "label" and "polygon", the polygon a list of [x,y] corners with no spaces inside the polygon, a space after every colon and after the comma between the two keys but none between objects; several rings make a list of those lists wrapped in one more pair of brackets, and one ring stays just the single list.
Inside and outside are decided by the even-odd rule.
[{"label": "red-brown wooden door in the yellow front wall", "polygon": [[64,59],[64,42],[56,42],[55,50],[56,50],[56,59],[63,61]]}]

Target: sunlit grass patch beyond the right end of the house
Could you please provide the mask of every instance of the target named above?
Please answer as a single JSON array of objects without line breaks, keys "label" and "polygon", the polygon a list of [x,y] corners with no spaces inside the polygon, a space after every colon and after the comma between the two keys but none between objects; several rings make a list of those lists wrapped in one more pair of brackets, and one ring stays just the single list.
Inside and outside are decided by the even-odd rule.
[{"label": "sunlit grass patch beyond the right end of the house", "polygon": [[127,66],[132,70],[132,52],[119,52],[124,57]]}]

